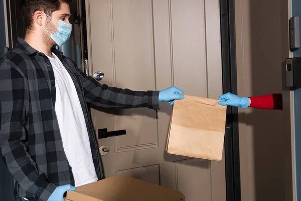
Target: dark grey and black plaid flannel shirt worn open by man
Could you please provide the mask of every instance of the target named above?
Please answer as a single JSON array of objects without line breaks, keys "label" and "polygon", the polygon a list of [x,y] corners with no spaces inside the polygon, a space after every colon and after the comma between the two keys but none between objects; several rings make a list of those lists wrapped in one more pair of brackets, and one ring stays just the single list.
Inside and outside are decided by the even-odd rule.
[{"label": "dark grey and black plaid flannel shirt worn open by man", "polygon": [[[53,49],[76,87],[99,179],[102,169],[86,103],[105,108],[159,109],[159,91],[101,85]],[[48,57],[18,39],[0,59],[0,153],[16,179],[16,196],[46,201],[58,185],[74,185],[55,113],[55,78]]]}]

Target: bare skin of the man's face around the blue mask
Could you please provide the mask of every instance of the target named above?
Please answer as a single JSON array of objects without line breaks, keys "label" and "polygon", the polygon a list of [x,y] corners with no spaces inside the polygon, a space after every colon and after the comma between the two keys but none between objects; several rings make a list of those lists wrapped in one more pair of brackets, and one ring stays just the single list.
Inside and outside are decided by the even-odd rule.
[{"label": "bare skin of the man's face around the blue mask", "polygon": [[[69,23],[70,16],[71,14],[70,14],[69,5],[66,3],[61,4],[61,9],[53,12],[51,15],[51,17],[54,20],[46,16],[45,29],[47,29],[47,31],[49,31],[51,34],[54,34],[55,32],[57,32],[57,27],[58,27],[57,21],[61,20],[66,23]],[[44,30],[42,33],[42,37],[45,44],[47,44],[47,46],[50,47],[56,46],[57,44],[51,39],[50,34],[47,31]]]}]

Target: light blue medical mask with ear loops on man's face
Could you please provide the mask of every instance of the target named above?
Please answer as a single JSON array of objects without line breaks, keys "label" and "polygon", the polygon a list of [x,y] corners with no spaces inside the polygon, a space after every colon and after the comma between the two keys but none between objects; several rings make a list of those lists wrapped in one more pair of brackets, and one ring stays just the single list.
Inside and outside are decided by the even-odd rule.
[{"label": "light blue medical mask with ear loops on man's face", "polygon": [[[45,13],[44,13],[45,14]],[[47,17],[53,19],[52,17],[50,17],[49,15],[45,14]],[[53,19],[55,20],[55,19]],[[57,20],[55,20],[57,21]],[[72,32],[72,25],[70,23],[66,23],[64,21],[57,21],[58,24],[58,28],[57,28],[57,32],[55,32],[54,34],[51,34],[49,31],[47,31],[47,29],[45,29],[45,27],[43,27],[49,34],[50,37],[52,38],[52,40],[54,40],[54,42],[58,45],[58,46],[62,46],[64,45],[68,39],[70,38],[71,32]]]}]

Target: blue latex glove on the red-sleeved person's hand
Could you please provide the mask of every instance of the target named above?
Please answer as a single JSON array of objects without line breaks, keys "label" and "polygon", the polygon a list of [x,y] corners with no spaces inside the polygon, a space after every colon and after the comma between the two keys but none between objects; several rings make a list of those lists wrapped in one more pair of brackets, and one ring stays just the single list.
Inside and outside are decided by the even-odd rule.
[{"label": "blue latex glove on the red-sleeved person's hand", "polygon": [[226,93],[219,97],[218,104],[221,106],[234,106],[238,108],[248,108],[250,105],[249,97],[239,97],[232,93]]}]

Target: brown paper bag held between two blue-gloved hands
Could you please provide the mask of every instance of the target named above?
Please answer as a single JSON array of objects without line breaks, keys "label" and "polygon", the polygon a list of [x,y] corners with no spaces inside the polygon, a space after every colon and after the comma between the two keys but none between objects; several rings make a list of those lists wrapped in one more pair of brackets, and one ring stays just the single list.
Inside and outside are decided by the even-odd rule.
[{"label": "brown paper bag held between two blue-gloved hands", "polygon": [[227,107],[220,106],[218,102],[190,95],[175,100],[167,152],[221,161]]}]

